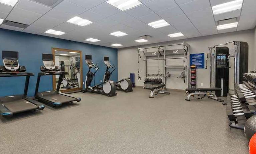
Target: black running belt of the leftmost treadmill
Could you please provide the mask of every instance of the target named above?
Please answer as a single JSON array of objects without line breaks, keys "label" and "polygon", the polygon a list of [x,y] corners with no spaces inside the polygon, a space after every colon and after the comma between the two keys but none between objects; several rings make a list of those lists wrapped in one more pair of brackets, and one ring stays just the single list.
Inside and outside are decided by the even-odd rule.
[{"label": "black running belt of the leftmost treadmill", "polygon": [[30,103],[25,99],[18,99],[11,102],[3,102],[2,104],[7,109],[12,111],[13,114],[38,109],[38,106],[36,106],[33,103]]}]

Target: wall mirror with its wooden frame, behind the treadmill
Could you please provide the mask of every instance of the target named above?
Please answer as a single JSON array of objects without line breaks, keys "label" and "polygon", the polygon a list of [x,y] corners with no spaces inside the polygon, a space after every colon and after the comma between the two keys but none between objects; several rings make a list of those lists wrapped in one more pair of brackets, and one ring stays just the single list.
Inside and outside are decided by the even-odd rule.
[{"label": "wall mirror with its wooden frame, behind the treadmill", "polygon": [[[68,72],[62,79],[60,85],[61,92],[71,92],[82,90],[82,52],[77,50],[52,48],[55,66],[59,66],[60,71]],[[53,76],[53,89],[56,90],[59,75]]]}]

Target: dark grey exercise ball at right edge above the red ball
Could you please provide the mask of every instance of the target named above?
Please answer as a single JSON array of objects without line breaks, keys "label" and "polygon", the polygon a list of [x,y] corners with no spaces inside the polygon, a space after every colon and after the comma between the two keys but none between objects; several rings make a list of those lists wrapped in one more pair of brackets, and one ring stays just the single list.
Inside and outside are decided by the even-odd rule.
[{"label": "dark grey exercise ball at right edge above the red ball", "polygon": [[250,117],[244,125],[244,134],[248,141],[256,133],[256,116]]}]

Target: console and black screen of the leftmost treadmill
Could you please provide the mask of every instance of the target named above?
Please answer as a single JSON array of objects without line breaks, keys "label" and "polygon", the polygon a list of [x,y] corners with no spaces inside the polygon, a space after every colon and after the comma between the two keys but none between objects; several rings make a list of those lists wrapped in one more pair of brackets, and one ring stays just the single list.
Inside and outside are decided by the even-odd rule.
[{"label": "console and black screen of the leftmost treadmill", "polygon": [[2,51],[4,67],[10,71],[19,69],[19,53],[16,51]]}]

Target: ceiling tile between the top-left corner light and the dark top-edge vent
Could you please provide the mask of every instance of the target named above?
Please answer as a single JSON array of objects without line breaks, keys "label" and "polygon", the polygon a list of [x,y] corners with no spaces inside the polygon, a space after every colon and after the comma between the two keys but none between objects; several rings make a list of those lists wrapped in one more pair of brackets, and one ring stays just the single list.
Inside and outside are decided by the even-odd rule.
[{"label": "ceiling tile between the top-left corner light and the dark top-edge vent", "polygon": [[20,0],[15,7],[39,14],[45,14],[52,9],[45,5],[41,5],[39,3],[35,3],[29,0]]}]

